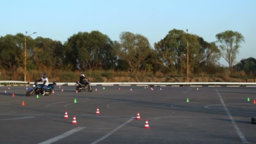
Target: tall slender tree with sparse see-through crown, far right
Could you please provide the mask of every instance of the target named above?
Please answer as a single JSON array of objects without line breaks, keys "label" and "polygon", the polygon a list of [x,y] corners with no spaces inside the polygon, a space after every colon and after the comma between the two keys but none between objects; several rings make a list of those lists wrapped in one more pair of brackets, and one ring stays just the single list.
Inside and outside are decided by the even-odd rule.
[{"label": "tall slender tree with sparse see-through crown, far right", "polygon": [[229,70],[233,72],[233,64],[239,53],[241,43],[245,42],[242,34],[227,30],[216,35],[219,47],[222,50],[221,56],[229,63]]}]

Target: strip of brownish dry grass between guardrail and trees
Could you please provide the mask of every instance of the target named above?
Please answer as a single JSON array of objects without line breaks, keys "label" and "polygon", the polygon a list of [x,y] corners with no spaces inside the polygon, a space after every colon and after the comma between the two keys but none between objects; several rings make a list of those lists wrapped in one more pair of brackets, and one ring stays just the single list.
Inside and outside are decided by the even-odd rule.
[{"label": "strip of brownish dry grass between guardrail and trees", "polygon": [[[18,67],[13,71],[6,71],[0,69],[0,80],[24,80],[24,69]],[[175,82],[175,79],[170,74],[163,74],[158,71],[155,74],[151,72],[141,71],[133,74],[123,71],[63,71],[60,69],[46,69],[44,72],[39,70],[28,70],[27,81],[35,81],[39,79],[43,73],[47,73],[50,81],[54,82],[75,82],[79,80],[81,74],[85,74],[88,78],[91,78],[92,82]],[[255,82],[254,79],[248,78],[244,71],[235,72],[230,75],[230,72],[224,71],[216,75],[206,75],[201,73],[200,75],[190,75],[190,82]],[[186,82],[184,75],[176,75],[179,82]]]}]

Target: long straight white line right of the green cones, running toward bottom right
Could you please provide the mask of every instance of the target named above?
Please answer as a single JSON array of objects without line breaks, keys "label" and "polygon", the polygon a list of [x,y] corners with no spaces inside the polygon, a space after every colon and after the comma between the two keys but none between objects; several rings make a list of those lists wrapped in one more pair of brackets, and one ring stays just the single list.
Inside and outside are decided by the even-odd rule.
[{"label": "long straight white line right of the green cones, running toward bottom right", "polygon": [[221,104],[223,105],[225,111],[227,112],[227,115],[229,116],[229,119],[231,120],[231,122],[232,122],[232,124],[233,124],[233,126],[235,128],[235,131],[237,132],[237,134],[240,137],[241,141],[243,141],[243,143],[248,143],[248,141],[245,139],[245,136],[243,135],[242,131],[240,130],[240,128],[238,128],[237,124],[235,123],[235,120],[233,119],[232,115],[230,114],[229,109],[227,109],[227,106],[224,103],[224,101],[223,101],[219,91],[217,90],[217,88],[216,88],[216,92],[217,92],[217,94],[219,96]]}]

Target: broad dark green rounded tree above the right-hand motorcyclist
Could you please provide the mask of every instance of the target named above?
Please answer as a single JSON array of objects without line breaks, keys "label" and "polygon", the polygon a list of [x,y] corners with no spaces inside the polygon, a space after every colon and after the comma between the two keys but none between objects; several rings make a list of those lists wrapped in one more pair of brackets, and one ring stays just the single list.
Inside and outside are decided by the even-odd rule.
[{"label": "broad dark green rounded tree above the right-hand motorcyclist", "polygon": [[74,69],[111,69],[115,65],[113,42],[99,31],[78,32],[65,43],[66,61]]}]

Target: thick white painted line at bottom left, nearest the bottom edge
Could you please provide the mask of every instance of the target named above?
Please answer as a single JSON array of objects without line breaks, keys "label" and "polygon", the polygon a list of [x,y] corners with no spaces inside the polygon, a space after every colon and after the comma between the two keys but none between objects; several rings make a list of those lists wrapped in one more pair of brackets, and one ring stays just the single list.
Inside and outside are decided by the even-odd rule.
[{"label": "thick white painted line at bottom left, nearest the bottom edge", "polygon": [[72,129],[72,130],[70,130],[70,131],[67,131],[66,133],[63,133],[63,134],[61,134],[61,135],[59,135],[59,136],[56,136],[56,137],[54,137],[54,138],[52,138],[52,139],[48,139],[47,141],[40,142],[39,144],[51,144],[51,143],[53,143],[53,142],[55,142],[55,141],[59,141],[60,139],[64,139],[65,137],[70,136],[70,135],[72,135],[72,134],[74,134],[74,133],[76,133],[76,132],[78,132],[78,131],[81,131],[81,130],[83,130],[84,128],[85,128],[85,127],[77,127],[77,128],[74,128],[74,129]]}]

